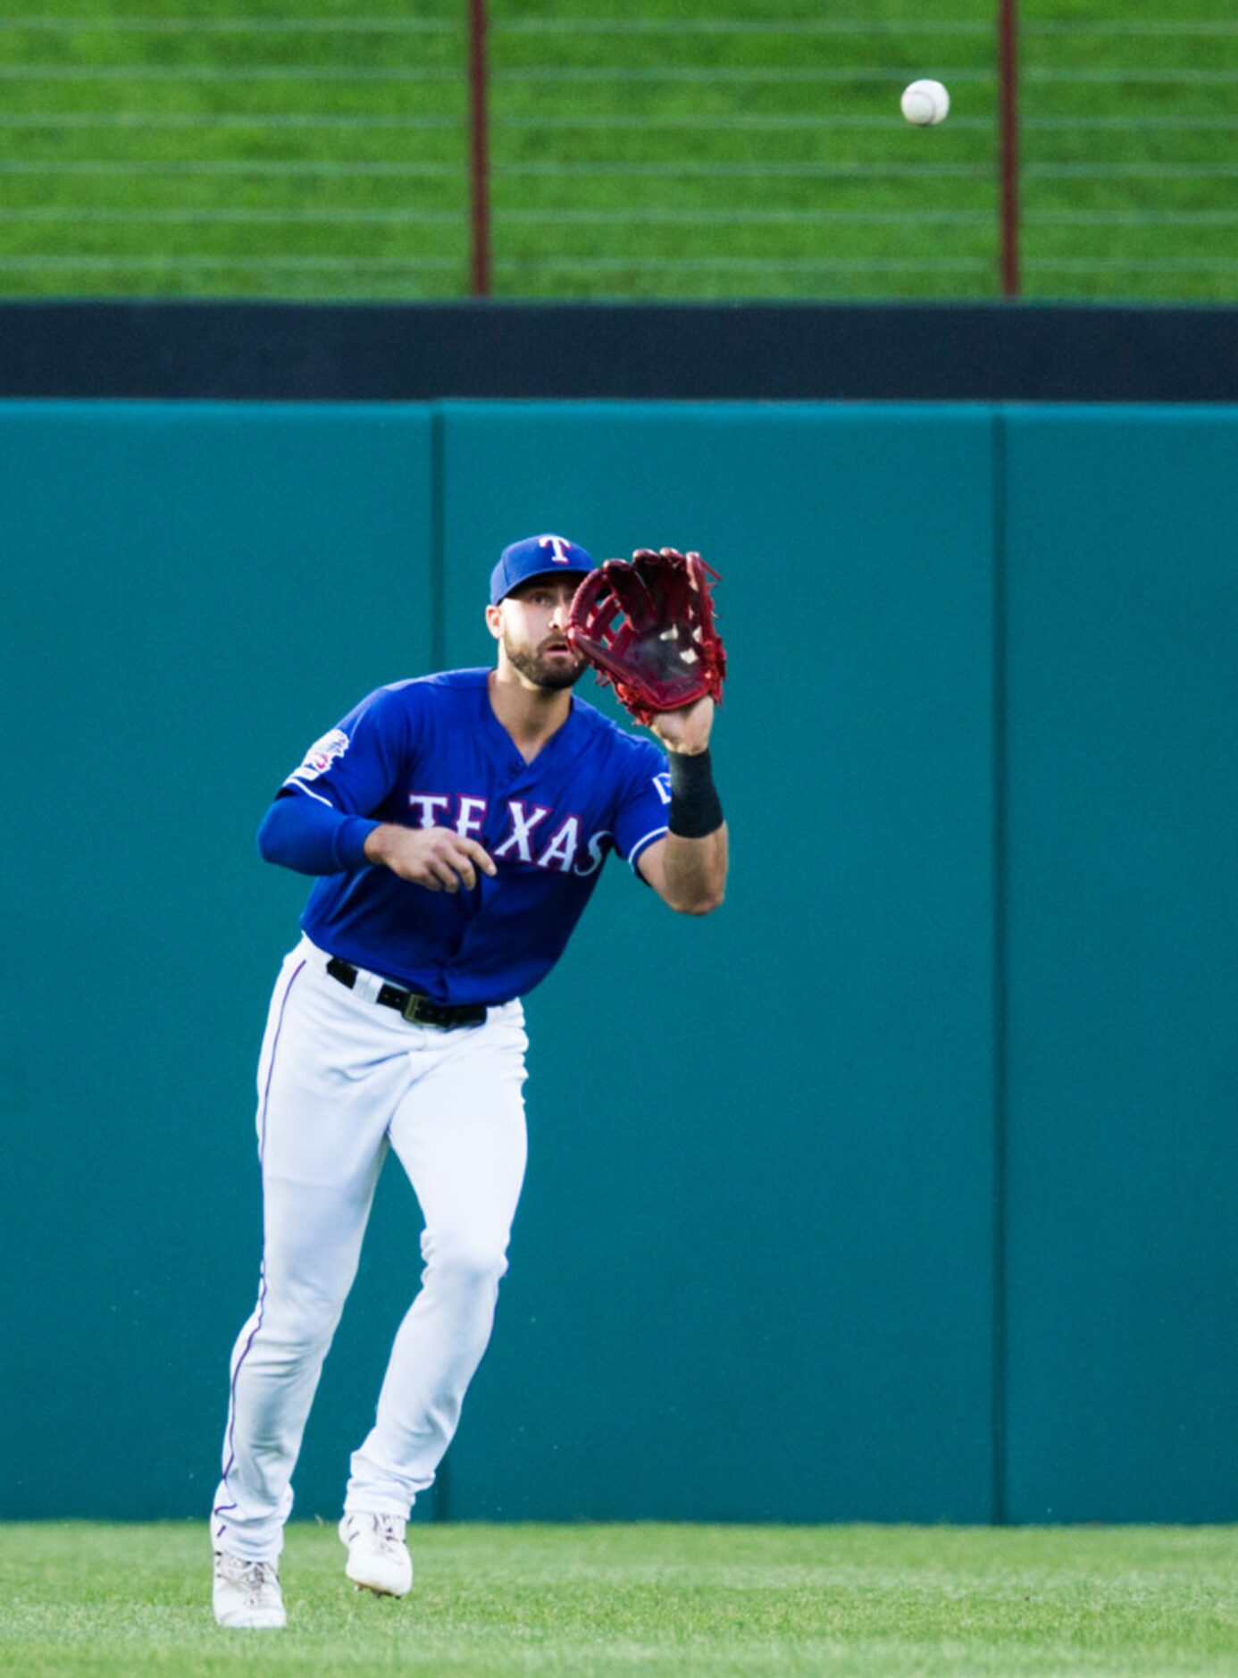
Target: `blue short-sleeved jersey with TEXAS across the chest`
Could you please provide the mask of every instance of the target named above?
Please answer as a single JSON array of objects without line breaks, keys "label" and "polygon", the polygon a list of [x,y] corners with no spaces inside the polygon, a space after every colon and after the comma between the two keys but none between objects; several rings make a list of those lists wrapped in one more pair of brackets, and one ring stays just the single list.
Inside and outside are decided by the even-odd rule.
[{"label": "blue short-sleeved jersey with TEXAS across the chest", "polygon": [[[669,779],[651,742],[574,696],[525,763],[486,678],[456,670],[379,688],[283,784],[285,795],[351,817],[334,852],[351,866],[317,881],[304,931],[436,1002],[525,995],[562,955],[607,854],[634,868],[666,832]],[[498,873],[478,871],[473,891],[414,886],[364,861],[376,822],[450,827],[485,846]]]}]

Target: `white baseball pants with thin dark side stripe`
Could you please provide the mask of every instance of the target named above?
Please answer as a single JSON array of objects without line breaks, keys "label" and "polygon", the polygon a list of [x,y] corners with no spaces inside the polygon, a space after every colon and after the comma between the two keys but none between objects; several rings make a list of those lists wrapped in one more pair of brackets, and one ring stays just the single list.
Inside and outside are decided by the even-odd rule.
[{"label": "white baseball pants with thin dark side stripe", "polygon": [[258,1302],[231,1354],[215,1549],[283,1547],[292,1470],[357,1272],[388,1146],[421,1203],[421,1290],[391,1349],[377,1418],[352,1453],[344,1509],[406,1517],[451,1443],[507,1270],[525,1173],[518,1002],[481,1025],[409,1025],[347,990],[307,938],[272,997],[258,1060],[263,1258]]}]

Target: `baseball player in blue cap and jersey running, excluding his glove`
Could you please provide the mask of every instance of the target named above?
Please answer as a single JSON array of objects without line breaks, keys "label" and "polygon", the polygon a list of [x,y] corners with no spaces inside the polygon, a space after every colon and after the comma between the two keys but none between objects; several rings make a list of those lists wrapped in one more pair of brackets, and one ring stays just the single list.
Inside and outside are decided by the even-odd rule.
[{"label": "baseball player in blue cap and jersey running, excluding his glove", "polygon": [[683,915],[718,906],[726,827],[713,698],[653,718],[664,750],[572,695],[569,607],[594,562],[528,537],[490,579],[493,670],[396,681],[305,753],[258,831],[312,874],[258,1062],[263,1260],[231,1354],[215,1618],[285,1623],[292,1472],[394,1149],[424,1215],[421,1290],[352,1453],[346,1574],[413,1582],[404,1524],[490,1339],[525,1170],[520,998],[559,960],[614,851]]}]

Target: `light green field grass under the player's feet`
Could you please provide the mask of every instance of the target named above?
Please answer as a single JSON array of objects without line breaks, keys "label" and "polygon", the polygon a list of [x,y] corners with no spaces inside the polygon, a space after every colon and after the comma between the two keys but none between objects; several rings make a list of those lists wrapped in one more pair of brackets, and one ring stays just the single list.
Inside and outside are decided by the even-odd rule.
[{"label": "light green field grass under the player's feet", "polygon": [[1238,1529],[418,1527],[403,1602],[294,1525],[289,1629],[210,1618],[203,1525],[0,1529],[0,1670],[1233,1675]]}]

